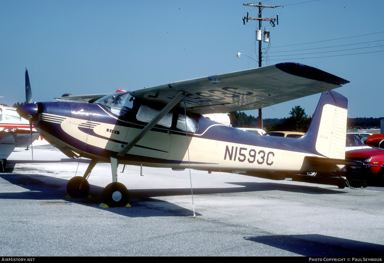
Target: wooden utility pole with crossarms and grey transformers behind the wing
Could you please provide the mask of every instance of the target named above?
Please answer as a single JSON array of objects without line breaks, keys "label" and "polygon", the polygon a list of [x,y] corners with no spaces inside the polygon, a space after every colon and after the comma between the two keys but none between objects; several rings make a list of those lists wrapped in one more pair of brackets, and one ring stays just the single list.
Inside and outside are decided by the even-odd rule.
[{"label": "wooden utility pole with crossarms and grey transformers behind the wing", "polygon": [[[261,37],[261,32],[262,32],[262,21],[265,20],[265,21],[269,21],[272,25],[272,27],[275,27],[275,23],[274,22],[277,22],[277,24],[279,24],[279,17],[277,15],[277,18],[263,18],[262,17],[262,10],[264,7],[269,7],[269,8],[276,8],[276,7],[280,7],[280,5],[262,5],[262,2],[259,2],[259,4],[254,4],[254,3],[243,3],[243,5],[247,5],[247,6],[251,6],[251,7],[258,7],[259,8],[259,15],[258,17],[249,17],[248,16],[248,13],[247,12],[247,17],[243,17],[243,23],[245,25],[245,20],[247,20],[247,23],[248,23],[248,20],[259,20],[259,29],[258,29],[258,32],[256,33],[256,40],[258,40],[259,42],[259,59],[258,59],[258,62],[259,62],[259,67],[262,66],[262,37]],[[258,37],[258,35],[260,34],[260,38]],[[264,35],[265,34],[268,34],[268,41],[269,41],[269,31],[266,30],[264,31]],[[264,37],[264,42],[268,42],[268,41],[265,41],[265,37]],[[260,108],[259,109],[259,128],[262,129],[263,128],[263,109]]]}]

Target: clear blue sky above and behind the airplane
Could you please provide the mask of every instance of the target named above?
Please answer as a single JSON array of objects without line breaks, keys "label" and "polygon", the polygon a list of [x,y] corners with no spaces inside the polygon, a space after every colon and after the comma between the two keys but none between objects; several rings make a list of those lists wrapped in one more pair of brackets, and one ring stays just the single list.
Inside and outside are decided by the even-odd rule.
[{"label": "clear blue sky above and behind the airplane", "polygon": [[[257,59],[258,22],[243,25],[242,17],[247,11],[256,17],[258,10],[243,3],[0,1],[0,103],[25,101],[25,67],[33,101],[63,93],[135,90],[256,67],[255,61],[236,57],[240,51]],[[345,78],[351,83],[336,91],[349,100],[348,117],[384,117],[384,1],[262,3],[281,5],[263,9],[267,18],[279,14],[276,27],[263,22],[271,34],[264,53],[269,60],[263,58],[263,65],[297,62]],[[303,43],[310,44],[299,45]],[[325,48],[331,46],[339,47]],[[326,51],[335,52],[314,53]],[[318,99],[313,95],[267,107],[263,118],[288,117],[295,105],[312,115]],[[257,110],[246,113],[258,115]]]}]

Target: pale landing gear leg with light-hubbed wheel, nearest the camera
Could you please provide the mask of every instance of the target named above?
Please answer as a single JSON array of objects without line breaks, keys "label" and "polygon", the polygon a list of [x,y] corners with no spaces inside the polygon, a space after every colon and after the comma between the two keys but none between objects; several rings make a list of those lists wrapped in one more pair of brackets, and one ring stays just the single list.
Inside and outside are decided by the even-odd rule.
[{"label": "pale landing gear leg with light-hubbed wheel, nearest the camera", "polygon": [[118,160],[113,157],[111,169],[113,183],[104,188],[103,202],[109,207],[122,207],[128,203],[128,190],[122,183],[118,183]]}]

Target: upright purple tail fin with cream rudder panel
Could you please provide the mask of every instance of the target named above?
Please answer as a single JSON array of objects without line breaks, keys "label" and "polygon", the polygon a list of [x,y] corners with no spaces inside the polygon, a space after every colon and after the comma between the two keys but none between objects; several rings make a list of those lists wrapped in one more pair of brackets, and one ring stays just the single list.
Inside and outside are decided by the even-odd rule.
[{"label": "upright purple tail fin with cream rudder panel", "polygon": [[321,94],[310,127],[300,140],[302,149],[329,158],[345,158],[348,100],[330,90]]}]

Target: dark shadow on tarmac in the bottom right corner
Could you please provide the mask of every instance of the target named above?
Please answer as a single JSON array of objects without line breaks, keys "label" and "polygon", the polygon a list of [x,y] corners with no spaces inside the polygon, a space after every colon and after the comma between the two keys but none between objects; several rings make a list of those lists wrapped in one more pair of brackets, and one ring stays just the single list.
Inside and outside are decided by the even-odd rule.
[{"label": "dark shadow on tarmac in the bottom right corner", "polygon": [[324,235],[245,236],[245,240],[274,246],[303,256],[358,256],[384,255],[384,246],[373,243]]}]

